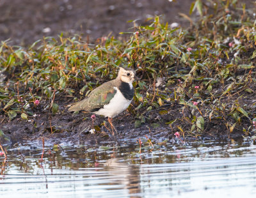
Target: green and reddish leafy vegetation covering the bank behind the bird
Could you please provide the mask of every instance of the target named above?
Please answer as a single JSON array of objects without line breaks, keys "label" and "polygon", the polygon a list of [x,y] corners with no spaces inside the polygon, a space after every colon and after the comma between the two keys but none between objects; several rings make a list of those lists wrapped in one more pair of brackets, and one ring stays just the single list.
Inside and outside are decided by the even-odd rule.
[{"label": "green and reddish leafy vegetation covering the bank behind the bird", "polygon": [[255,131],[256,20],[245,5],[229,2],[197,0],[191,12],[200,19],[184,15],[191,27],[172,28],[156,17],[135,26],[128,40],[103,37],[90,44],[60,35],[29,49],[2,42],[1,114],[27,120],[38,109],[63,113],[63,98],[76,101],[128,66],[140,78],[129,108],[134,126],[164,125],[183,136],[248,135]]}]

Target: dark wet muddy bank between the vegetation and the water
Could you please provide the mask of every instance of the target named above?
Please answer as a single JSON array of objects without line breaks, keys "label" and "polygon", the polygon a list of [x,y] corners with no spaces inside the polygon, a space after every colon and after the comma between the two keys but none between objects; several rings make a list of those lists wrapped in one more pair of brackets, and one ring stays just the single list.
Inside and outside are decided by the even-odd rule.
[{"label": "dark wet muddy bank between the vegetation and the water", "polygon": [[[29,116],[28,121],[20,118],[9,120],[6,116],[1,115],[1,130],[5,136],[1,137],[2,144],[15,144],[16,142],[28,142],[36,141],[45,138],[46,141],[52,142],[52,144],[60,144],[61,142],[72,142],[73,144],[100,144],[102,141],[116,141],[118,139],[150,139],[154,143],[163,143],[165,141],[177,141],[175,139],[175,132],[179,132],[182,140],[191,141],[197,139],[201,141],[203,139],[243,139],[246,134],[243,131],[243,126],[236,126],[234,131],[230,133],[227,127],[221,120],[206,121],[205,130],[202,133],[196,132],[190,135],[186,133],[182,137],[177,126],[182,126],[183,129],[191,128],[189,123],[184,123],[182,119],[182,113],[180,112],[180,105],[178,103],[170,103],[159,109],[151,110],[147,116],[150,120],[141,123],[140,126],[136,126],[138,119],[134,118],[134,115],[125,111],[113,119],[113,123],[118,131],[114,136],[112,131],[109,130],[110,126],[108,119],[103,116],[96,116],[95,121],[92,121],[91,115],[84,112],[78,114],[72,114],[67,111],[68,103],[59,103],[60,112],[52,114],[52,112],[44,112],[41,110],[35,110],[34,116]],[[159,110],[168,110],[167,114],[159,114]],[[185,112],[188,116],[189,112]],[[178,118],[171,127],[166,124],[168,121]],[[250,122],[243,125],[250,125]],[[246,127],[246,126],[244,126]],[[95,132],[92,133],[92,128]],[[250,136],[253,133],[250,133]],[[5,139],[4,139],[5,137]]]}]

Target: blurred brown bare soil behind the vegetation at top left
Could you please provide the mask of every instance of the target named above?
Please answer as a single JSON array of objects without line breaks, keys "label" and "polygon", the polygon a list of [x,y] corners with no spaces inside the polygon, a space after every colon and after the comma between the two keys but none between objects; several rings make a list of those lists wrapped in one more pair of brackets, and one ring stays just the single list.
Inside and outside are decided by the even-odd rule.
[{"label": "blurred brown bare soil behind the vegetation at top left", "polygon": [[0,40],[11,38],[13,44],[29,45],[43,36],[61,33],[83,34],[90,41],[118,36],[134,26],[128,20],[145,24],[148,17],[164,15],[170,23],[188,25],[178,13],[187,13],[193,0],[2,0],[0,1]]}]

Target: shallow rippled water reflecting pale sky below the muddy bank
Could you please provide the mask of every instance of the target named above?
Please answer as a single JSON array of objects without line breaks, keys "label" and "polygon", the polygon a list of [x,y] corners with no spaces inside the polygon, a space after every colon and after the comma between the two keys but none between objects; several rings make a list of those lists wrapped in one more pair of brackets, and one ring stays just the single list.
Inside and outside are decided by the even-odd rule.
[{"label": "shallow rippled water reflecting pale sky below the muddy bank", "polygon": [[[128,141],[127,141],[128,142]],[[13,146],[0,157],[1,197],[255,197],[252,142],[145,140],[86,147],[42,142]]]}]

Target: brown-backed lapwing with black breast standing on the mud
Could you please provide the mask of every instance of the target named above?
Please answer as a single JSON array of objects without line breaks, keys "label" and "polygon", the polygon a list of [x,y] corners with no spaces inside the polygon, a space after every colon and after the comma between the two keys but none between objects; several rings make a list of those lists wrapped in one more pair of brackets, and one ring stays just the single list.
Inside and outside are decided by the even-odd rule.
[{"label": "brown-backed lapwing with black breast standing on the mud", "polygon": [[131,68],[120,67],[118,76],[100,85],[80,102],[72,104],[68,111],[85,110],[97,115],[108,117],[113,135],[116,131],[112,120],[115,116],[127,109],[134,96],[132,82],[136,72]]}]

